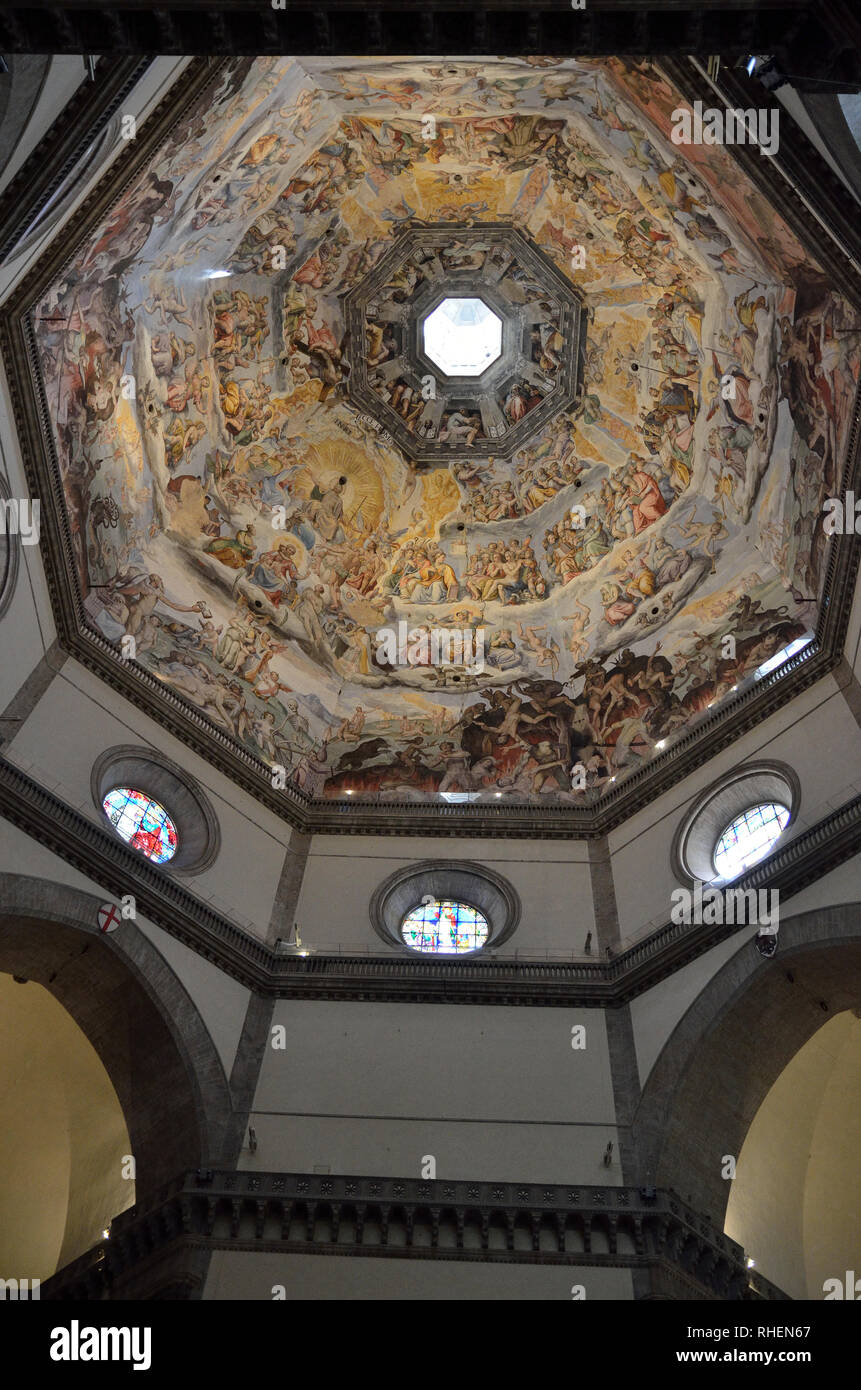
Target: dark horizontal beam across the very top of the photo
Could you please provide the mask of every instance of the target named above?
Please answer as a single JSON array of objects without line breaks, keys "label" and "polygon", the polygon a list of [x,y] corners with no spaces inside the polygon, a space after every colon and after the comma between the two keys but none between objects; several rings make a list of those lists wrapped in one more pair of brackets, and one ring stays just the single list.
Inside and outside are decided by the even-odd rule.
[{"label": "dark horizontal beam across the very top of the photo", "polygon": [[[776,54],[787,71],[858,75],[842,0],[31,0],[0,13],[6,53]],[[847,28],[848,25],[848,28]]]}]

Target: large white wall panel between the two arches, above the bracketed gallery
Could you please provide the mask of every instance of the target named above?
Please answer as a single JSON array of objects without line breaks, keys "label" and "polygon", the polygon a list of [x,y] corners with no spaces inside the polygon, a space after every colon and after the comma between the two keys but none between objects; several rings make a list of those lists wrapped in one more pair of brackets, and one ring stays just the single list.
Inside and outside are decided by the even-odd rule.
[{"label": "large white wall panel between the two arches, above the bracketed gallery", "polygon": [[[252,1123],[261,1172],[620,1183],[604,1015],[280,1001]],[[572,1048],[572,1026],[586,1048]]]}]

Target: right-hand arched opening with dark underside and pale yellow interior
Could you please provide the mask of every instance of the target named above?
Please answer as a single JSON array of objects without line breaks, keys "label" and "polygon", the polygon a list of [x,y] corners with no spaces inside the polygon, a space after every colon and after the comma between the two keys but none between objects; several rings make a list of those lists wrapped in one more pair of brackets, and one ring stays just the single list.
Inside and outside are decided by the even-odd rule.
[{"label": "right-hand arched opening with dark underside and pale yellow interior", "polygon": [[854,1268],[860,1009],[858,905],[790,917],[773,959],[746,940],[709,980],[637,1111],[641,1180],[677,1191],[797,1298]]}]

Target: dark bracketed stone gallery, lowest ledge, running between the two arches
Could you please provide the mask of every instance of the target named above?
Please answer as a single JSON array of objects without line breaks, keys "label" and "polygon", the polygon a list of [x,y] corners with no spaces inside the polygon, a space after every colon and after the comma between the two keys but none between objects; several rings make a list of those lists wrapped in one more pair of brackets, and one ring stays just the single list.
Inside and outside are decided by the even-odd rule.
[{"label": "dark bracketed stone gallery, lowest ledge, running between the two arches", "polygon": [[122,1212],[110,1240],[47,1280],[42,1297],[110,1297],[114,1283],[129,1297],[136,1266],[177,1241],[210,1251],[668,1268],[700,1298],[787,1297],[764,1279],[751,1287],[743,1248],[672,1191],[211,1170],[185,1173]]}]

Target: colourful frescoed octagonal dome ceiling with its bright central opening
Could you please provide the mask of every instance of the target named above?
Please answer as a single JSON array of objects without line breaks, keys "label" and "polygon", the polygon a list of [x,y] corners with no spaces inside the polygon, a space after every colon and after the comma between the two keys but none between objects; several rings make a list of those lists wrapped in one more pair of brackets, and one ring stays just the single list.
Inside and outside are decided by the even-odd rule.
[{"label": "colourful frescoed octagonal dome ceiling with its bright central opening", "polygon": [[812,637],[858,324],[679,104],[234,64],[38,307],[85,621],[299,796],[591,805]]}]

